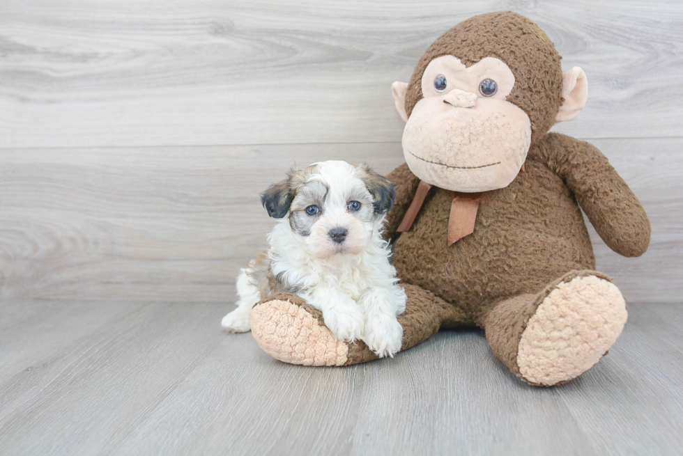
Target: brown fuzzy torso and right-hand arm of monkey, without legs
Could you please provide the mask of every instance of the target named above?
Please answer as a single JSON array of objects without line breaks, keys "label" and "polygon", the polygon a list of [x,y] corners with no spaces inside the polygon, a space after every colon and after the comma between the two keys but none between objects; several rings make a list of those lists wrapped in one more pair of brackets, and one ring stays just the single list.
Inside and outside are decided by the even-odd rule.
[{"label": "brown fuzzy torso and right-hand arm of monkey, without legs", "polygon": [[[450,247],[446,239],[453,192],[436,189],[413,228],[396,243],[398,276],[477,320],[493,303],[535,294],[571,270],[595,268],[577,199],[590,219],[598,221],[596,229],[608,245],[627,254],[642,253],[650,239],[643,207],[599,150],[591,146],[587,158],[586,144],[546,135],[532,147],[525,172],[508,187],[482,194],[474,233]],[[583,173],[570,166],[584,159],[599,166]],[[414,177],[398,180],[406,168],[401,165],[391,174],[397,190],[414,186]],[[597,198],[601,195],[612,197]],[[403,205],[394,209],[392,221],[405,211]]]}]

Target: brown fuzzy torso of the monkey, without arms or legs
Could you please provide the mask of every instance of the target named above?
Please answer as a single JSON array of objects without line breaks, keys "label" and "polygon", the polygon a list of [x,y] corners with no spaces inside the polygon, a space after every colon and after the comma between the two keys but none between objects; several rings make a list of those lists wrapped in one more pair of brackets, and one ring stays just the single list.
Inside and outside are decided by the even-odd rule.
[{"label": "brown fuzzy torso of the monkey, without arms or legs", "polygon": [[484,192],[474,233],[447,246],[452,200],[452,191],[438,188],[427,196],[395,245],[394,267],[402,281],[431,290],[473,320],[493,303],[595,267],[574,196],[542,163],[528,160],[508,187]]}]

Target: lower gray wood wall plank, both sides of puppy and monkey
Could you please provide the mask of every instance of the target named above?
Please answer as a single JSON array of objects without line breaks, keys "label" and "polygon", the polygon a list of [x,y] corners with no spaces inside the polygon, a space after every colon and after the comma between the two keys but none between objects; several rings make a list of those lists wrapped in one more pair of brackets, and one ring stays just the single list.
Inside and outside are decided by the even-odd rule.
[{"label": "lower gray wood wall plank, both sides of puppy and monkey", "polygon": [[[679,302],[683,139],[592,142],[653,226],[641,258],[592,231],[599,269],[629,302]],[[0,299],[233,301],[238,269],[273,226],[259,192],[293,164],[324,159],[381,173],[403,162],[399,143],[5,150]]]}]

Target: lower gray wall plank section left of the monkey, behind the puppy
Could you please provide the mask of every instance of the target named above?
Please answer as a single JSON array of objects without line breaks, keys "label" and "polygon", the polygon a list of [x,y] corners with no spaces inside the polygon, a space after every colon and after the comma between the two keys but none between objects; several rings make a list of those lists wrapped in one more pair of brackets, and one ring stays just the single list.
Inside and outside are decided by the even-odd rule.
[{"label": "lower gray wall plank section left of the monkey, behind the puppy", "polygon": [[[389,171],[395,149],[373,164]],[[231,301],[273,225],[259,192],[342,151],[360,162],[368,148],[6,150],[0,297]]]}]

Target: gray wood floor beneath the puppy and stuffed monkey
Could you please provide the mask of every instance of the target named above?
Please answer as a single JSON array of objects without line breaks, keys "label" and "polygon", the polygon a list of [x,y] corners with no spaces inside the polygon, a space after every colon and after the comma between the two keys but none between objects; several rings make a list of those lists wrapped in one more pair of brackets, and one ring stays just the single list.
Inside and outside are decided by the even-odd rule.
[{"label": "gray wood floor beneath the puppy and stuffed monkey", "polygon": [[[59,308],[83,307],[42,305],[58,326],[69,318]],[[480,331],[438,333],[394,359],[307,368],[271,359],[250,334],[222,333],[224,305],[128,310],[0,371],[3,455],[673,455],[683,446],[681,304],[631,306],[608,356],[554,388],[516,379]],[[17,341],[50,337],[28,327]]]}]

